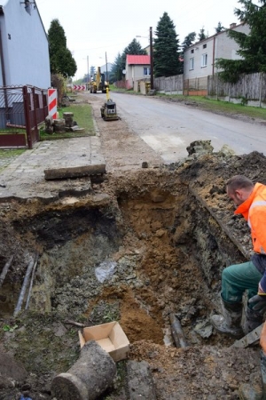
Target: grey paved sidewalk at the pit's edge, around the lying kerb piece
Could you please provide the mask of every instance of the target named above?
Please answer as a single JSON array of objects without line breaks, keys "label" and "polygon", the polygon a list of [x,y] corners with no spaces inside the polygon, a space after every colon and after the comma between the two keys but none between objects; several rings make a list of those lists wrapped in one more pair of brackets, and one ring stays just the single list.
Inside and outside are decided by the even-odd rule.
[{"label": "grey paved sidewalk at the pit's edge, around the lying kerb piece", "polygon": [[0,172],[0,202],[11,198],[57,199],[90,192],[90,179],[44,180],[44,170],[106,164],[99,136],[41,141],[15,158]]}]

